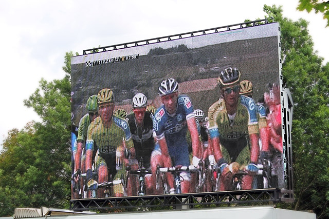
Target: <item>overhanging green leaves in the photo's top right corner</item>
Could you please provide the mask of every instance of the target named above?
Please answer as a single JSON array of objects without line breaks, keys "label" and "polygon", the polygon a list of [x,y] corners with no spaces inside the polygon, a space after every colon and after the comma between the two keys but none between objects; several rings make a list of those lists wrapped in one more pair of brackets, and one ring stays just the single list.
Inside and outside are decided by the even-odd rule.
[{"label": "overhanging green leaves in the photo's top right corner", "polygon": [[329,26],[329,1],[324,0],[299,0],[298,10],[306,10],[308,13],[315,10],[315,13],[323,13],[323,19],[327,20],[327,27]]}]

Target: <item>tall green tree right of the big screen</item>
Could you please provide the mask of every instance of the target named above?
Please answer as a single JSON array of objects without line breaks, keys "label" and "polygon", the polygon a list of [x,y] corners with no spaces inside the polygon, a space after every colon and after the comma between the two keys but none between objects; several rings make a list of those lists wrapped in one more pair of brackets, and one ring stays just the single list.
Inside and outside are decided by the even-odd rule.
[{"label": "tall green tree right of the big screen", "polygon": [[304,19],[282,17],[282,8],[264,6],[281,27],[284,86],[294,100],[292,131],[295,202],[290,208],[329,217],[329,64],[313,49]]}]

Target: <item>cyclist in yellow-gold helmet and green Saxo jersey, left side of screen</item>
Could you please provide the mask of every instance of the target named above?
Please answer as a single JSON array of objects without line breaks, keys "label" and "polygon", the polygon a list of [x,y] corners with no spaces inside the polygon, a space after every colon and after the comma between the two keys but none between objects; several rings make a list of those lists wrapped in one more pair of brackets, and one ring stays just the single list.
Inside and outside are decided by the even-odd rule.
[{"label": "cyclist in yellow-gold helmet and green Saxo jersey, left side of screen", "polygon": [[[127,121],[113,116],[114,93],[111,89],[104,88],[97,95],[99,117],[88,127],[86,141],[86,173],[89,189],[97,189],[97,183],[111,180],[120,180],[125,176],[125,162],[116,156],[117,149],[127,150],[127,157],[135,156],[134,145]],[[93,178],[92,163],[93,152],[95,155],[98,182]],[[117,159],[118,158],[118,159]],[[116,163],[116,160],[118,162]],[[123,196],[122,184],[114,185],[114,196]],[[103,192],[98,191],[98,196]]]}]

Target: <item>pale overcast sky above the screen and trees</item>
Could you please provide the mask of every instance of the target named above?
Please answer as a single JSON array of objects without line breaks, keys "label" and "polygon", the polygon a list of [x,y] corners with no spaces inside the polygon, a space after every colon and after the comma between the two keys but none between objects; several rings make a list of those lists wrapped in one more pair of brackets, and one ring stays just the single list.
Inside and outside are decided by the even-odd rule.
[{"label": "pale overcast sky above the screen and trees", "polygon": [[306,19],[315,50],[329,62],[329,27],[322,14],[297,11],[298,0],[1,1],[0,144],[9,130],[39,120],[23,101],[41,78],[63,78],[65,52],[263,19],[264,4],[282,5],[293,21]]}]

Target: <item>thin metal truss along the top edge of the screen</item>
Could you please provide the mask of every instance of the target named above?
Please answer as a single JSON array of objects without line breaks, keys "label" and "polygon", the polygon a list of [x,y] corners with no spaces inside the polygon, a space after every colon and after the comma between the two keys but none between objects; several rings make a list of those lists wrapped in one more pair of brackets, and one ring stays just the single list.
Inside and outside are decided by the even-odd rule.
[{"label": "thin metal truss along the top edge of the screen", "polygon": [[216,28],[211,28],[211,29],[198,30],[198,31],[180,33],[180,34],[169,35],[169,36],[162,36],[162,37],[157,37],[157,38],[152,38],[152,39],[145,39],[142,41],[134,41],[134,42],[130,42],[130,43],[117,44],[117,45],[113,45],[113,46],[86,49],[86,50],[83,50],[83,55],[90,54],[90,53],[112,51],[112,50],[117,50],[117,49],[131,48],[131,47],[166,42],[166,41],[172,41],[174,39],[188,38],[188,37],[193,37],[193,36],[206,35],[206,34],[211,34],[211,33],[241,29],[241,28],[246,28],[246,27],[259,26],[259,25],[264,25],[264,24],[268,24],[267,19],[260,19],[257,21],[227,25],[227,26],[223,26],[223,27],[216,27]]}]

